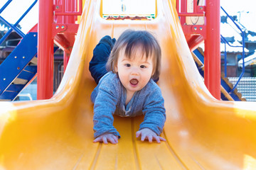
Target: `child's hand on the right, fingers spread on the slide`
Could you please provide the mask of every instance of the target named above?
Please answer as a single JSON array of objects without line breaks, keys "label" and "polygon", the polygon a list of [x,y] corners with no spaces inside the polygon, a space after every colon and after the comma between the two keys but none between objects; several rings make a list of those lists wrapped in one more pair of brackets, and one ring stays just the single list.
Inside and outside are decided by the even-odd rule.
[{"label": "child's hand on the right, fingers spread on the slide", "polygon": [[152,140],[156,140],[156,142],[158,143],[160,143],[160,141],[166,141],[163,137],[159,137],[158,135],[156,135],[155,132],[153,132],[149,128],[144,128],[136,132],[136,137],[139,136],[142,136],[142,141],[144,141],[145,139],[149,140],[149,142],[152,142]]}]

